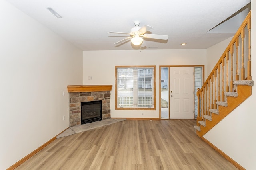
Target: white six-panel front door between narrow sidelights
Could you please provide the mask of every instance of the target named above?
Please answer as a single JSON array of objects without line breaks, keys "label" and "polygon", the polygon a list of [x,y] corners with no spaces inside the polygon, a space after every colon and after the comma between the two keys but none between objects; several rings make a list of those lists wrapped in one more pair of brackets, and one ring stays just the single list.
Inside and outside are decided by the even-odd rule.
[{"label": "white six-panel front door between narrow sidelights", "polygon": [[170,67],[170,119],[194,119],[194,67]]}]

